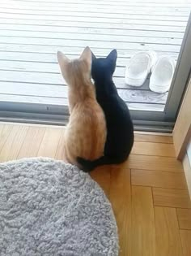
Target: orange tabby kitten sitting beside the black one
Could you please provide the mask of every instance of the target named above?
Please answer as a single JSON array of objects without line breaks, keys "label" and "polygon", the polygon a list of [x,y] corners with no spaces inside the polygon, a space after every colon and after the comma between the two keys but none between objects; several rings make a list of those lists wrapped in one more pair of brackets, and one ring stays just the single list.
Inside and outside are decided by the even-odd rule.
[{"label": "orange tabby kitten sitting beside the black one", "polygon": [[77,157],[96,159],[104,154],[106,124],[91,83],[91,50],[86,47],[79,59],[70,60],[57,52],[62,76],[68,85],[70,120],[65,131],[65,157],[79,165]]}]

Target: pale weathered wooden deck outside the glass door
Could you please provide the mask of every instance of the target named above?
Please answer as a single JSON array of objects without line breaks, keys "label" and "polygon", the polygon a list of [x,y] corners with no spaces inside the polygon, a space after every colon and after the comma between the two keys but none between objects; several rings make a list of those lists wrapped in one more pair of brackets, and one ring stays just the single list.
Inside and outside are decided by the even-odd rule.
[{"label": "pale weathered wooden deck outside the glass door", "polygon": [[0,101],[66,105],[57,50],[77,57],[118,51],[114,81],[130,109],[163,111],[168,93],[125,85],[125,65],[139,50],[177,59],[191,2],[164,0],[6,0],[0,2]]}]

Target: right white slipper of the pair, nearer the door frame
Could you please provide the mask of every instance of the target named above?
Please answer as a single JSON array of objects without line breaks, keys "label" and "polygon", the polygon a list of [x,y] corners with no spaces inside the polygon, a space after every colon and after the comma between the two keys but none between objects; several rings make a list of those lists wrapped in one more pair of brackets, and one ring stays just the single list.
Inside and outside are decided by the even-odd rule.
[{"label": "right white slipper of the pair, nearer the door frame", "polygon": [[149,88],[155,93],[166,93],[170,89],[175,71],[175,61],[168,56],[160,56],[152,69]]}]

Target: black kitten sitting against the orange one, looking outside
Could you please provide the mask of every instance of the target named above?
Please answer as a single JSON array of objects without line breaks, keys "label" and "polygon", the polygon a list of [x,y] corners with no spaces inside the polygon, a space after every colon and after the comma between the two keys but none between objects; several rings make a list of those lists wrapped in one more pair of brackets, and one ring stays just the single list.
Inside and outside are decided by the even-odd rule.
[{"label": "black kitten sitting against the orange one, looking outside", "polygon": [[97,102],[104,110],[108,134],[104,156],[93,161],[77,158],[84,171],[104,164],[123,163],[134,144],[134,126],[129,109],[112,81],[116,61],[117,50],[112,50],[107,58],[99,59],[92,53],[91,76],[95,81]]}]

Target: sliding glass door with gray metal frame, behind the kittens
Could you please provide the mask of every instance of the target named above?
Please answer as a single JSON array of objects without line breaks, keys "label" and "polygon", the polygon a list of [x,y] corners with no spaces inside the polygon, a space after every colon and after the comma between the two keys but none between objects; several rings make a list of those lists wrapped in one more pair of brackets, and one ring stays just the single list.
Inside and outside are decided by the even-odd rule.
[{"label": "sliding glass door with gray metal frame, behind the kittens", "polygon": [[[90,46],[97,57],[117,49],[113,80],[135,127],[172,130],[190,75],[191,4],[164,0],[55,2],[0,2],[0,120],[66,124],[67,85],[57,64],[57,50],[72,59]],[[130,58],[148,50],[176,61],[169,92],[152,92],[149,79],[140,88],[125,83]]]}]

